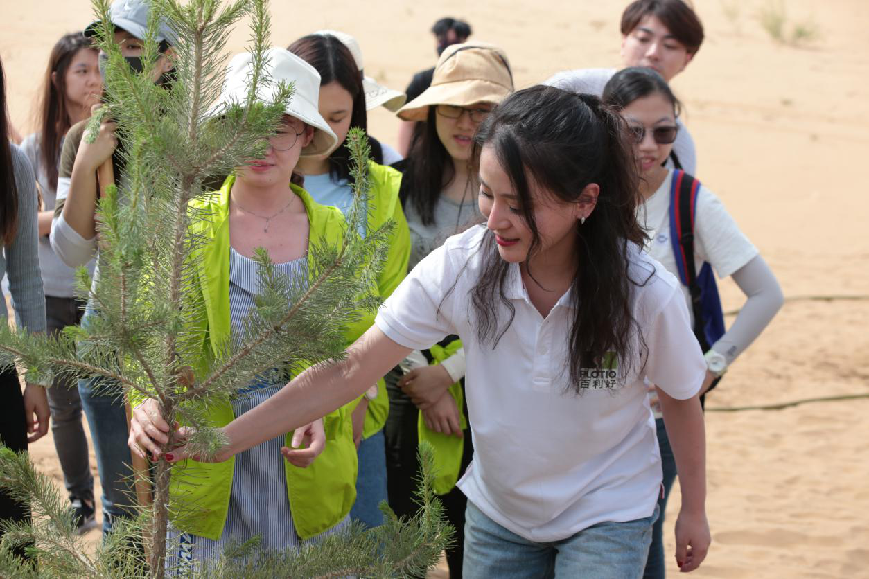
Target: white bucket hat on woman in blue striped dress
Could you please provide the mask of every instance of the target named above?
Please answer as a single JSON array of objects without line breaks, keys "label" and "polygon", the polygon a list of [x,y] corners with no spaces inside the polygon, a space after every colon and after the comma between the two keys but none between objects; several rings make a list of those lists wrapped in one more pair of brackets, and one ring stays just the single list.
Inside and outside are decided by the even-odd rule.
[{"label": "white bucket hat on woman in blue striped dress", "polygon": [[[226,80],[220,97],[209,109],[209,116],[221,115],[231,104],[247,100],[254,56],[249,52],[235,55],[229,61]],[[338,146],[338,137],[317,110],[320,102],[320,74],[310,64],[287,49],[271,47],[265,53],[265,82],[256,93],[257,99],[269,102],[280,82],[293,82],[295,92],[287,104],[287,115],[314,128],[314,139],[302,148],[302,157],[328,155]]]}]

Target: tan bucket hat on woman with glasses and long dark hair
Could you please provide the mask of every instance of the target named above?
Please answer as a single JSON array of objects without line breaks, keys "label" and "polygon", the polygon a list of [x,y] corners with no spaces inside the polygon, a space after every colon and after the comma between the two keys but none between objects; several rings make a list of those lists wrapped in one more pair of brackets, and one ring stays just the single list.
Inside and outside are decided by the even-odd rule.
[{"label": "tan bucket hat on woman with glasses and long dark hair", "polygon": [[431,86],[398,111],[405,121],[425,121],[428,107],[498,103],[513,92],[513,74],[503,49],[488,43],[448,46],[434,67]]}]

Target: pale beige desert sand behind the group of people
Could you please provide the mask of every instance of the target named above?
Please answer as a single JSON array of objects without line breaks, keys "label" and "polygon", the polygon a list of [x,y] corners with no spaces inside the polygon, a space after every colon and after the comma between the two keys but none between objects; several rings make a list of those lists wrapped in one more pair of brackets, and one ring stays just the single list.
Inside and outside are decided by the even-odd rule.
[{"label": "pale beige desert sand behind the group of people", "polygon": [[[627,0],[626,0],[627,2]],[[428,28],[466,18],[474,39],[501,44],[517,85],[557,70],[618,66],[626,2],[275,2],[273,38],[331,28],[355,35],[366,72],[397,89],[432,66]],[[28,127],[51,44],[90,22],[83,0],[0,0],[0,55],[12,118]],[[786,0],[786,29],[811,23],[804,47],[761,27],[766,0],[696,0],[707,40],[674,82],[697,143],[698,176],[760,248],[788,297],[869,293],[869,3]],[[247,32],[233,36],[241,49]],[[385,109],[372,134],[395,142]],[[726,307],[743,297],[723,283]],[[710,410],[869,394],[869,304],[793,301],[733,365]],[[708,516],[713,546],[698,577],[869,577],[869,400],[779,411],[707,414]],[[32,455],[61,481],[50,438]],[[678,486],[667,513],[668,570]],[[96,531],[90,537],[96,540]],[[445,576],[443,571],[437,572]]]}]

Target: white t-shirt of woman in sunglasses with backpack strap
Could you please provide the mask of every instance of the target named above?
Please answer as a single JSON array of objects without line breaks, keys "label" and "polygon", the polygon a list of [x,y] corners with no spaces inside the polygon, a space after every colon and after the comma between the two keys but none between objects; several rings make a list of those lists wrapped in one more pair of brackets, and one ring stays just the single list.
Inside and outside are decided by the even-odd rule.
[{"label": "white t-shirt of woman in sunglasses with backpack strap", "polygon": [[[676,257],[673,255],[673,242],[670,240],[670,188],[673,184],[673,171],[660,184],[645,205],[637,207],[637,221],[645,227],[651,242],[647,251],[660,265],[673,275],[679,275]],[[700,184],[697,204],[694,206],[694,267],[700,272],[704,261],[713,267],[719,278],[729,277],[758,255],[757,247],[740,231],[733,217],[727,213],[720,199]],[[687,286],[682,286],[687,306],[691,304],[691,294]],[[693,324],[693,313],[688,311]]]}]

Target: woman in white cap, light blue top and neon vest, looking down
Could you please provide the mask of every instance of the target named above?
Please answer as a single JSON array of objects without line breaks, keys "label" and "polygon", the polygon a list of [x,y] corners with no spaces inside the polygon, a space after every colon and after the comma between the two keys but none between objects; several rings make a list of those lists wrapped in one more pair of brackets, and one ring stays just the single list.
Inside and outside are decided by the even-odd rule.
[{"label": "woman in white cap, light blue top and neon vest, looking down", "polygon": [[[359,45],[352,36],[340,32],[317,32],[302,36],[289,46],[289,50],[320,73],[320,114],[342,143],[331,155],[308,157],[299,162],[299,168],[305,174],[305,186],[318,203],[346,212],[354,200],[353,188],[350,187],[349,152],[344,144],[348,129],[367,128],[366,110],[371,109],[372,104],[397,109],[404,102],[404,95],[396,93],[397,100],[394,97],[391,101],[384,101],[382,97],[388,89],[381,87],[383,90],[378,91],[375,99],[369,100],[370,84],[365,83]],[[377,291],[385,299],[408,271],[410,230],[398,200],[401,174],[381,164],[383,161],[378,155],[380,144],[370,137],[369,141],[375,161],[368,164],[371,189],[368,192],[368,223],[365,228],[375,230],[389,220],[395,223],[389,238],[388,257],[377,277]],[[360,233],[364,235],[365,231]],[[365,317],[364,320],[367,326],[357,325],[355,327],[359,333],[348,334],[348,345],[374,323],[374,316]],[[387,500],[383,425],[386,423],[389,401],[383,380],[378,381],[377,388],[368,397],[362,397],[351,405],[351,410],[354,435],[359,444],[359,475],[356,478],[356,503],[350,511],[350,517],[368,527],[376,527],[383,523],[383,513],[378,505]]]}]

